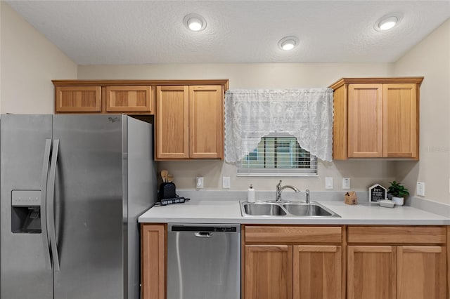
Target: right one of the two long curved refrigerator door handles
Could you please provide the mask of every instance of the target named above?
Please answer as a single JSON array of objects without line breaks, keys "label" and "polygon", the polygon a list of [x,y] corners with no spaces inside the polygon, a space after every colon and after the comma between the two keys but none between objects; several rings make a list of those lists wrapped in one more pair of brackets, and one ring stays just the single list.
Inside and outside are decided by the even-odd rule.
[{"label": "right one of the two long curved refrigerator door handles", "polygon": [[53,257],[53,269],[59,271],[58,246],[56,244],[55,229],[55,177],[56,162],[58,161],[59,139],[53,140],[53,149],[51,151],[50,173],[47,185],[47,226],[49,227],[51,255]]}]

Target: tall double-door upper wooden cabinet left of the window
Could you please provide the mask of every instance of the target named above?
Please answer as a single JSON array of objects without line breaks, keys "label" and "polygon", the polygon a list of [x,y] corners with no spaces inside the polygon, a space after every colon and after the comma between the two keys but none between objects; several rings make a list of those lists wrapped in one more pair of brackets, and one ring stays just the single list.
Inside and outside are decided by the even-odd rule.
[{"label": "tall double-door upper wooden cabinet left of the window", "polygon": [[156,159],[222,159],[224,86],[157,86]]}]

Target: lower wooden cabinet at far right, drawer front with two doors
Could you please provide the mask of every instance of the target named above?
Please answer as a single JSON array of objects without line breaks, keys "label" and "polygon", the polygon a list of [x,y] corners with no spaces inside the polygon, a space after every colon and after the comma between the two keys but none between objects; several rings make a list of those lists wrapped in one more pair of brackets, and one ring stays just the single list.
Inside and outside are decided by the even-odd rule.
[{"label": "lower wooden cabinet at far right, drawer front with two doors", "polygon": [[445,227],[349,227],[348,238],[348,299],[446,298]]}]

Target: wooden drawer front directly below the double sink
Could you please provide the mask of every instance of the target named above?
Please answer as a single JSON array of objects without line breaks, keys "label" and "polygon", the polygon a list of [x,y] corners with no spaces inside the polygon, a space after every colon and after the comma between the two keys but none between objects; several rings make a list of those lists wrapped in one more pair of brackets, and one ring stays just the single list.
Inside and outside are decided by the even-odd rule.
[{"label": "wooden drawer front directly below the double sink", "polygon": [[258,243],[340,243],[341,227],[246,226],[245,242]]}]

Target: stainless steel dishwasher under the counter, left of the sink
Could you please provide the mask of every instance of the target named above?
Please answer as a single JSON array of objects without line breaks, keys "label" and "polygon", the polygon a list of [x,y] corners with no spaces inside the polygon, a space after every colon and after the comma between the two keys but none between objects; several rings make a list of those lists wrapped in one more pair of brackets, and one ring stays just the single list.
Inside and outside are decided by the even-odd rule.
[{"label": "stainless steel dishwasher under the counter, left of the sink", "polygon": [[169,224],[167,299],[240,298],[240,225]]}]

